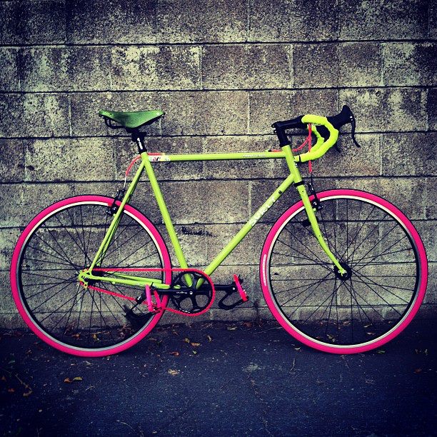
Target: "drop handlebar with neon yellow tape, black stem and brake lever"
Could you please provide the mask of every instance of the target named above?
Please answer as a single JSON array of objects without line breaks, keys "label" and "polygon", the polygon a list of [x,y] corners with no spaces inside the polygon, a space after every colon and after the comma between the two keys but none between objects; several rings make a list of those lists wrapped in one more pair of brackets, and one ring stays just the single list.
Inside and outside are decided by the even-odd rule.
[{"label": "drop handlebar with neon yellow tape, black stem and brake lever", "polygon": [[[298,116],[296,119],[276,121],[276,123],[272,124],[272,127],[275,129],[276,135],[278,136],[279,145],[282,147],[291,144],[291,141],[288,139],[286,134],[286,130],[306,129],[308,124],[313,125],[313,133],[317,138],[316,145],[313,146],[311,151],[295,156],[295,161],[306,162],[320,158],[326,154],[326,152],[337,142],[338,129],[348,123],[352,125],[352,141],[356,146],[360,147],[355,139],[355,117],[353,116],[351,109],[346,105],[344,105],[343,109],[341,109],[341,112],[335,116],[323,117],[306,114],[304,116]],[[318,126],[318,128],[316,126]]]}]

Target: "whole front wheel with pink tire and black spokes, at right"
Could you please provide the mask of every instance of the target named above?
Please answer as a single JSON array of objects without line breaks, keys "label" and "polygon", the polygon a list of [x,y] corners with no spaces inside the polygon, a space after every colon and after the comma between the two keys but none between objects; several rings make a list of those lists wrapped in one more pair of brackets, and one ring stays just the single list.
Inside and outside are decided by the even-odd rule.
[{"label": "whole front wheel with pink tire and black spokes, at right", "polygon": [[318,199],[319,226],[347,274],[341,276],[318,245],[299,201],[263,246],[266,303],[288,333],[318,350],[358,353],[382,346],[423,301],[428,265],[421,238],[381,197],[345,189],[324,191]]}]

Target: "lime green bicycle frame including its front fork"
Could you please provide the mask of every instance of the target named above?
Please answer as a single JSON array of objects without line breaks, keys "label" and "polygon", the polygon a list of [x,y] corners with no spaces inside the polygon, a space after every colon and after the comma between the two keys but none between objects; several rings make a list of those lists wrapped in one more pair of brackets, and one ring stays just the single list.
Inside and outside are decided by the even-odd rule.
[{"label": "lime green bicycle frame including its front fork", "polygon": [[273,204],[282,196],[287,189],[294,184],[298,191],[299,196],[303,201],[303,205],[305,206],[306,214],[308,216],[308,220],[311,224],[311,228],[313,230],[316,239],[326,253],[328,258],[331,259],[333,264],[338,268],[341,274],[346,273],[344,268],[338,262],[338,259],[333,255],[331,250],[328,248],[326,241],[323,238],[321,230],[318,226],[318,222],[316,216],[314,214],[313,206],[311,206],[311,201],[308,197],[308,193],[306,192],[305,185],[303,184],[301,173],[298,170],[296,164],[296,157],[293,156],[293,152],[291,151],[291,146],[283,146],[281,150],[276,151],[259,151],[259,152],[236,152],[236,153],[214,153],[214,154],[149,154],[146,151],[141,153],[141,164],[139,169],[136,171],[134,178],[129,185],[129,188],[124,195],[124,198],[121,200],[121,204],[119,205],[119,209],[116,214],[114,214],[114,218],[111,221],[111,224],[106,231],[106,235],[104,236],[104,240],[101,242],[101,246],[97,251],[94,259],[86,270],[79,273],[79,280],[84,283],[86,286],[87,280],[96,279],[99,281],[108,281],[111,283],[121,283],[126,285],[133,286],[146,286],[151,285],[153,283],[155,288],[159,289],[168,289],[169,285],[161,283],[156,278],[149,279],[144,278],[142,276],[132,276],[125,273],[120,272],[111,272],[111,276],[94,276],[92,271],[94,267],[99,267],[99,260],[104,257],[106,250],[109,248],[111,243],[111,239],[116,232],[119,219],[121,213],[123,212],[124,206],[131,199],[131,196],[134,194],[134,190],[143,174],[144,170],[146,170],[146,174],[149,177],[149,181],[151,183],[151,188],[154,192],[154,196],[156,197],[156,201],[159,206],[159,210],[161,211],[161,215],[164,219],[164,224],[169,233],[170,241],[174,246],[174,251],[176,253],[176,258],[179,261],[179,265],[181,268],[189,268],[186,263],[186,258],[181,248],[181,244],[179,243],[179,238],[174,230],[174,225],[171,221],[171,217],[169,214],[169,210],[167,209],[166,203],[164,201],[164,196],[161,193],[161,189],[159,187],[158,181],[156,180],[155,172],[152,166],[152,162],[175,162],[175,161],[231,161],[231,160],[240,160],[240,159],[286,159],[288,164],[288,169],[290,170],[290,174],[286,177],[286,179],[278,186],[278,188],[273,191],[273,194],[268,197],[268,199],[264,202],[264,204],[256,211],[251,218],[247,221],[247,223],[241,228],[238,233],[229,241],[229,243],[221,250],[220,253],[214,258],[213,261],[204,269],[204,272],[211,276],[211,274],[216,270],[218,266],[223,262],[223,260],[233,251],[234,248],[240,243],[243,238],[248,234],[249,231],[256,225],[256,223],[260,220],[260,218],[266,214],[268,209],[273,206]]}]

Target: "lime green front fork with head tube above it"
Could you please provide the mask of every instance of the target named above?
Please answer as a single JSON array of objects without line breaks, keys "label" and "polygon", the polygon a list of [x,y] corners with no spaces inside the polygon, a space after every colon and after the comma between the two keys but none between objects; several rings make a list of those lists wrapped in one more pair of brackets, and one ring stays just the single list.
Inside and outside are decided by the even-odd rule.
[{"label": "lime green front fork with head tube above it", "polygon": [[326,253],[329,259],[333,262],[334,266],[338,268],[338,272],[341,276],[347,273],[346,269],[341,266],[340,262],[336,258],[336,256],[331,252],[331,249],[326,244],[325,239],[321,233],[320,227],[318,226],[318,221],[316,218],[316,214],[314,214],[315,209],[311,205],[311,201],[308,197],[308,193],[306,192],[305,184],[303,184],[301,172],[297,168],[297,164],[294,161],[293,153],[291,152],[291,146],[283,146],[282,150],[286,154],[286,161],[288,164],[288,169],[290,169],[290,173],[293,175],[294,186],[296,187],[299,196],[303,201],[303,206],[305,206],[306,216],[308,216],[308,220],[311,224],[311,228],[313,229],[314,236],[317,238],[318,243],[320,244],[323,251]]}]

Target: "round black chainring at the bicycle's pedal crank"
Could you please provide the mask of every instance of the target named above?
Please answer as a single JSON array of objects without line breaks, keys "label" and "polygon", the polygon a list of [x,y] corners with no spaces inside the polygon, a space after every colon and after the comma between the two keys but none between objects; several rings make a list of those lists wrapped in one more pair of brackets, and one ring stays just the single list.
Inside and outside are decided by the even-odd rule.
[{"label": "round black chainring at the bicycle's pedal crank", "polygon": [[[201,285],[198,285],[199,281]],[[196,314],[205,311],[214,299],[214,286],[211,279],[200,271],[186,269],[179,273],[174,278],[171,288],[177,287],[180,287],[181,293],[171,294],[170,299],[176,309],[182,313]]]}]

